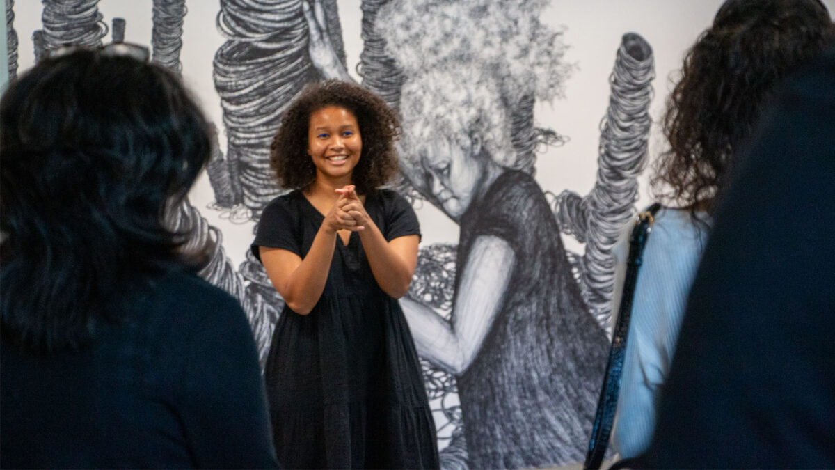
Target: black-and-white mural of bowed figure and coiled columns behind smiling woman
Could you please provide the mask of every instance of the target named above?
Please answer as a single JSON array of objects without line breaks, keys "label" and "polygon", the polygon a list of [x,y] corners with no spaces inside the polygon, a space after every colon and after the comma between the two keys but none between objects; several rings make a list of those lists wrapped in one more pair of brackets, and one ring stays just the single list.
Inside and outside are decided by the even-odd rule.
[{"label": "black-and-white mural of bowed figure and coiled columns behind smiling woman", "polygon": [[[211,74],[214,89],[199,91],[214,93],[221,110],[207,169],[213,202],[185,201],[168,219],[191,234],[186,249],[210,248],[200,275],[239,299],[262,361],[283,301],[261,264],[241,254],[248,241],[225,243],[210,220],[253,227],[283,192],[268,154],[286,106],[308,82],[357,79],[402,118],[402,174],[392,186],[459,229],[457,240],[423,244],[401,300],[423,356],[443,467],[580,462],[608,348],[610,249],[635,212],[648,154],[655,56],[645,38],[623,30],[610,44],[609,106],[599,151],[587,156],[594,186],[579,194],[537,177],[539,159],[571,137],[539,120],[538,106],[559,106],[582,66],[566,59],[565,29],[543,19],[559,12],[549,0],[362,0],[350,24],[336,0],[134,3],[151,18],[154,62]],[[66,43],[108,42],[117,33],[104,20],[109,4],[45,0],[30,33],[13,28],[17,7],[7,0],[10,75],[18,33],[32,35],[34,60]],[[214,8],[216,22],[192,28],[222,36],[200,71],[181,57],[198,8]],[[348,30],[362,40],[355,63]]]}]

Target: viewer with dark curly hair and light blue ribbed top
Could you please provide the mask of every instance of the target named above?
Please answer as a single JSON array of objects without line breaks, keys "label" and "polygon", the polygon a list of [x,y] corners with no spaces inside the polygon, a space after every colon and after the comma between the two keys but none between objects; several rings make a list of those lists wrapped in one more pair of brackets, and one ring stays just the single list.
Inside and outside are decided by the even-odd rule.
[{"label": "viewer with dark curly hair and light blue ribbed top", "polygon": [[[613,431],[623,457],[650,443],[687,294],[736,155],[777,84],[819,54],[831,30],[819,0],[728,0],[686,54],[663,120],[670,147],[655,162],[652,179],[671,207],[655,214],[635,286]],[[629,232],[613,250],[619,260],[613,312],[620,307]]]}]

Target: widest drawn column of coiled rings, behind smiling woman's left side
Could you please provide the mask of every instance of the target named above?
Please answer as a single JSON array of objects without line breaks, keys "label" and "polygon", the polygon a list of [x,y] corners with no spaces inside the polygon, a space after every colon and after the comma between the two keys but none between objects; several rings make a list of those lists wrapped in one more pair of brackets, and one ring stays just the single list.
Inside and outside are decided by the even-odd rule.
[{"label": "widest drawn column of coiled rings, behind smiling woman's left side", "polygon": [[[333,43],[342,48],[335,2],[326,3],[327,12]],[[217,199],[242,203],[257,217],[281,194],[269,165],[281,114],[318,74],[307,54],[301,0],[223,0],[217,26],[227,38],[215,54],[214,76],[232,192]]]}]

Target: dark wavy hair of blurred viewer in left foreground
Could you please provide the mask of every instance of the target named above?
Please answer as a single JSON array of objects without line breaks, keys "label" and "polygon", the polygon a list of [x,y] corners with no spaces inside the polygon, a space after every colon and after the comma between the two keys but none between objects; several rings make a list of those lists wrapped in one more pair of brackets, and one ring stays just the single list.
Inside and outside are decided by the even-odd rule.
[{"label": "dark wavy hair of blurred viewer in left foreground", "polygon": [[210,156],[180,79],[78,50],[44,59],[0,101],[3,340],[76,349],[124,299],[184,259],[166,207]]}]

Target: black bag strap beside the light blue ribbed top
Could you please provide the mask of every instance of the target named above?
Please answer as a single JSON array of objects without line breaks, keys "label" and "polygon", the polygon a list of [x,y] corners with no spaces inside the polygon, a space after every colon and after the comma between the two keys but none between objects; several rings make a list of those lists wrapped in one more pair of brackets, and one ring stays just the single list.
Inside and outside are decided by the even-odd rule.
[{"label": "black bag strap beside the light blue ribbed top", "polygon": [[632,300],[635,298],[635,284],[638,281],[638,270],[642,263],[641,255],[644,253],[646,239],[652,230],[655,213],[658,212],[660,207],[660,204],[656,202],[635,217],[635,227],[632,229],[632,235],[630,236],[629,258],[626,261],[626,278],[623,294],[620,297],[618,319],[615,322],[615,331],[609,350],[609,362],[606,364],[603,387],[600,389],[600,399],[597,401],[595,425],[591,429],[589,451],[585,455],[583,464],[584,469],[597,470],[600,468],[600,463],[603,462],[606,453],[606,447],[609,446],[612,424],[615,421],[615,408],[618,404],[620,375],[623,372],[626,355],[626,335],[629,334]]}]

